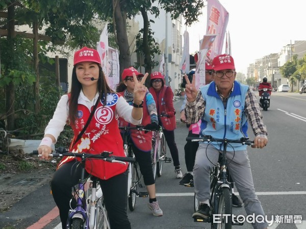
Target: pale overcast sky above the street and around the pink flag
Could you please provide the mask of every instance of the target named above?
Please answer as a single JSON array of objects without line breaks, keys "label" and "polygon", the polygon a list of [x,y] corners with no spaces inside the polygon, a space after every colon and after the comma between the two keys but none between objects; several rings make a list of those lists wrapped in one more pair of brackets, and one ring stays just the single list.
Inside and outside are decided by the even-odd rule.
[{"label": "pale overcast sky above the street and around the pink flag", "polygon": [[[236,70],[246,73],[249,64],[297,40],[306,40],[305,9],[302,0],[219,0],[230,14],[227,31],[231,35]],[[207,8],[199,22],[187,27],[190,53],[198,50],[198,40],[206,34]],[[224,42],[225,46],[225,42]],[[223,48],[223,52],[225,48]]]}]

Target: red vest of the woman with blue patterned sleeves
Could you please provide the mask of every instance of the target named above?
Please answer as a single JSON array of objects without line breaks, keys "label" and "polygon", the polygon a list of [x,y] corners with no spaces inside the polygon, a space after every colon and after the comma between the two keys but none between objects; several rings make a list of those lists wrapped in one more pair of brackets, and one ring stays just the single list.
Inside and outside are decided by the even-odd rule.
[{"label": "red vest of the woman with blue patterned sleeves", "polygon": [[[121,96],[124,96],[124,91],[119,92]],[[143,100],[142,108],[142,122],[141,125],[145,126],[151,123],[150,115],[146,105],[146,99]],[[119,117],[118,126],[135,126],[126,122],[123,118]],[[142,130],[131,130],[131,138],[134,145],[141,151],[150,152],[152,148],[152,131],[144,133]]]}]

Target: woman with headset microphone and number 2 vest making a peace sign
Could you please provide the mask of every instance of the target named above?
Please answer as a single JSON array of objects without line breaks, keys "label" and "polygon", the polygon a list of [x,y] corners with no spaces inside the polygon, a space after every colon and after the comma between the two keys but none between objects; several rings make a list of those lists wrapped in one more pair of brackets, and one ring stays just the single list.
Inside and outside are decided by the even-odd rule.
[{"label": "woman with headset microphone and number 2 vest making a peace sign", "polygon": [[[74,132],[70,151],[90,154],[110,151],[113,155],[124,156],[117,117],[135,125],[140,124],[142,108],[130,106],[121,95],[109,88],[96,50],[84,47],[75,52],[73,66],[71,92],[62,96],[53,119],[45,129],[38,147],[41,158],[49,159],[51,145],[56,142],[66,123]],[[133,77],[136,79],[135,75]],[[146,77],[147,74],[141,82],[135,83],[134,103],[137,105],[141,104],[147,91],[143,85]],[[76,205],[71,188],[81,178],[82,169],[76,161],[74,157],[64,157],[50,183],[63,229],[66,228],[70,206],[74,209]],[[85,169],[100,182],[111,228],[131,228],[126,213],[127,164],[87,160]]]}]

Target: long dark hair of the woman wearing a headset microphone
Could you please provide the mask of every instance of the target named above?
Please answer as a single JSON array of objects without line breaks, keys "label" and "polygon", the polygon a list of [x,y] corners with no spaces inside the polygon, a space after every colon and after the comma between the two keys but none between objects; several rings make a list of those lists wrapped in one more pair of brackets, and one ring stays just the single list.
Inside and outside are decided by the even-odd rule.
[{"label": "long dark hair of the woman wearing a headset microphone", "polygon": [[[97,83],[97,93],[99,93],[98,100],[100,101],[103,97],[104,106],[106,105],[106,97],[107,93],[113,93],[114,91],[109,87],[109,85],[106,82],[106,78],[104,75],[104,72],[99,64],[97,64],[99,67],[99,78]],[[75,69],[77,67],[74,66],[72,70],[72,79],[71,79],[71,91],[70,91],[70,99],[68,100],[68,106],[69,106],[69,121],[70,123],[74,123],[75,119],[78,115],[78,99],[80,92],[82,90],[82,84],[78,80],[77,73],[75,72]]]}]

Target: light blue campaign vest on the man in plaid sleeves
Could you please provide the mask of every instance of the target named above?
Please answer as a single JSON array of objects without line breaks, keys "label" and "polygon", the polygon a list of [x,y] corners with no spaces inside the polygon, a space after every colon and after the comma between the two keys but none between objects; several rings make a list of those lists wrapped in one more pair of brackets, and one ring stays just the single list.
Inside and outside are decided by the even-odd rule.
[{"label": "light blue campaign vest on the man in plaid sleeves", "polygon": [[[244,113],[245,96],[249,87],[234,81],[234,91],[227,100],[226,107],[216,92],[212,82],[200,88],[206,101],[205,112],[201,118],[200,135],[212,135],[215,138],[240,139],[247,136],[247,117]],[[223,145],[212,142],[212,145],[223,150]],[[227,151],[245,150],[246,146],[231,144]]]}]

